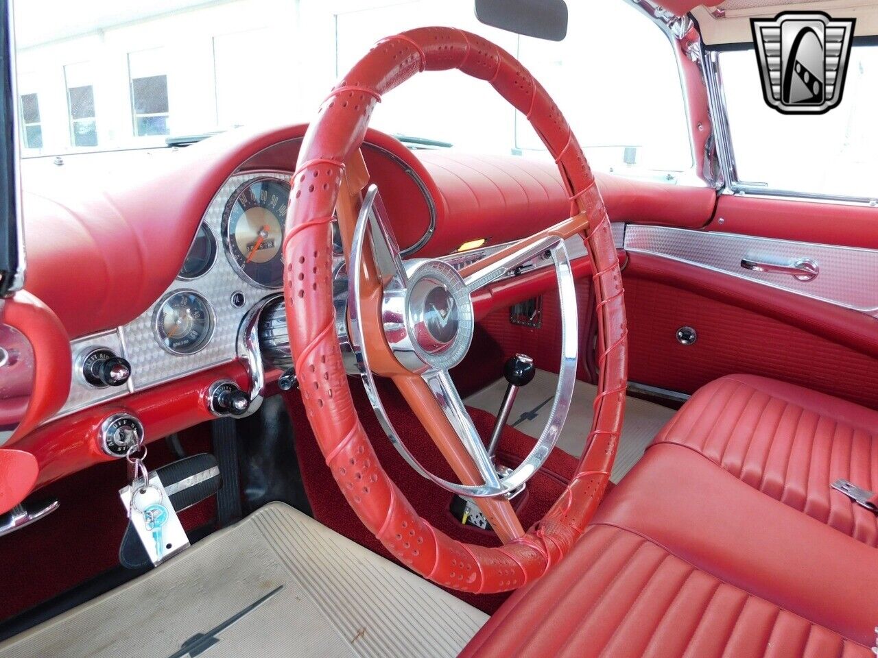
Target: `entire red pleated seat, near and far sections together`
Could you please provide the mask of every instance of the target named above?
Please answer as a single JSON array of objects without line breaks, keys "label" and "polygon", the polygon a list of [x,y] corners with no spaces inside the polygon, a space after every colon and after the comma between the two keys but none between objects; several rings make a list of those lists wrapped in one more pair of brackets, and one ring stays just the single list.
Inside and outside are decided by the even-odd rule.
[{"label": "entire red pleated seat, near and far sections together", "polygon": [[875,428],[792,384],[710,383],[462,655],[873,655],[875,517],[829,483],[874,487]]}]

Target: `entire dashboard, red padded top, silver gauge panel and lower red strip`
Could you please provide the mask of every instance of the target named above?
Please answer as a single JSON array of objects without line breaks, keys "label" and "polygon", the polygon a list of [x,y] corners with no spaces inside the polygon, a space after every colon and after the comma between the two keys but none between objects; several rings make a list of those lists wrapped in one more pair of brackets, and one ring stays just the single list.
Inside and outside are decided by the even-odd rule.
[{"label": "entire dashboard, red padded top, silver gauge panel and lower red strip", "polygon": [[[218,411],[214,394],[232,400],[237,390],[232,401],[245,409],[242,395],[255,406],[277,389],[291,365],[280,295],[285,206],[305,130],[241,129],[114,163],[99,190],[93,166],[66,190],[72,168],[25,188],[25,290],[0,301],[0,341],[17,340],[26,358],[0,362],[3,375],[21,371],[18,397],[0,377],[0,449],[32,454],[38,486],[122,456],[97,440],[102,433],[140,426],[156,440],[236,415]],[[551,160],[415,154],[372,130],[362,151],[408,257],[462,267],[570,211]],[[713,199],[709,189],[599,183],[611,217],[623,220],[614,225],[619,247],[625,220],[688,221],[694,197],[696,210]],[[480,247],[461,251],[469,243]],[[582,241],[568,251],[574,275],[588,275]],[[480,291],[477,318],[552,288],[540,258]]]}]

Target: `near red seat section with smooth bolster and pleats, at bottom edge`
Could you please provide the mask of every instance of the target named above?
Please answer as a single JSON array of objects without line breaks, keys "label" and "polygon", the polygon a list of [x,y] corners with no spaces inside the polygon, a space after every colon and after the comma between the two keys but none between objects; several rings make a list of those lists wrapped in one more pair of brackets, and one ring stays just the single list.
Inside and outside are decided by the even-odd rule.
[{"label": "near red seat section with smooth bolster and pleats, at bottom edge", "polygon": [[651,447],[462,655],[866,658],[878,553],[687,447]]}]

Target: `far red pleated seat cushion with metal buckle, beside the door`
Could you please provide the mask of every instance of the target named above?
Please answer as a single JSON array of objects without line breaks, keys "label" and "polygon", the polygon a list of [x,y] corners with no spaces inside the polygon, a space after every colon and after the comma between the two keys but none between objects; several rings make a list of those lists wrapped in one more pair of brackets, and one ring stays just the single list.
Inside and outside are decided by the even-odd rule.
[{"label": "far red pleated seat cushion with metal buckle, beside the door", "polygon": [[753,375],[695,392],[657,443],[703,454],[742,482],[856,540],[878,546],[878,517],[833,490],[878,490],[878,411]]}]

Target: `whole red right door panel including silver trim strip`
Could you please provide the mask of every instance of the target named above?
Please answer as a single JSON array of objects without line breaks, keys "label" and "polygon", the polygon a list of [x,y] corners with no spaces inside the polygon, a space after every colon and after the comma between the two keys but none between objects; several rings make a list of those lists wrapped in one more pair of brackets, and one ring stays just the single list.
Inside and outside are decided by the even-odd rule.
[{"label": "whole red right door panel including silver trim strip", "polygon": [[[702,231],[629,226],[625,247],[632,381],[749,373],[878,407],[878,208],[721,195]],[[810,281],[741,267],[805,258]]]}]

